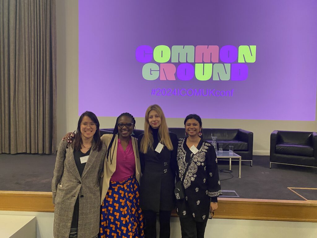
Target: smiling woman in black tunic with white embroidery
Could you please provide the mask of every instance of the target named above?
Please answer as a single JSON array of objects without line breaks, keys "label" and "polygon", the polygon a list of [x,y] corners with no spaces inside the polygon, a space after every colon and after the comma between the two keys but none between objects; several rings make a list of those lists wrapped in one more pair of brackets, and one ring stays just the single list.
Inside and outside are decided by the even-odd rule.
[{"label": "smiling woman in black tunic with white embroidery", "polygon": [[188,115],[184,125],[188,137],[178,140],[176,180],[183,181],[185,198],[177,201],[177,213],[182,238],[202,238],[221,195],[217,156],[214,147],[200,138],[202,121],[198,115]]}]

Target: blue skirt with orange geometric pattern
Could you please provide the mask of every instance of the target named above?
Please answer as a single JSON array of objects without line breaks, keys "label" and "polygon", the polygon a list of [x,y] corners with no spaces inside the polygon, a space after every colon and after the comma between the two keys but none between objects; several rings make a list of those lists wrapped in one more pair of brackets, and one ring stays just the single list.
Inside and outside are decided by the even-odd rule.
[{"label": "blue skirt with orange geometric pattern", "polygon": [[134,175],[122,182],[110,181],[101,205],[100,238],[143,238],[144,217],[139,183]]}]

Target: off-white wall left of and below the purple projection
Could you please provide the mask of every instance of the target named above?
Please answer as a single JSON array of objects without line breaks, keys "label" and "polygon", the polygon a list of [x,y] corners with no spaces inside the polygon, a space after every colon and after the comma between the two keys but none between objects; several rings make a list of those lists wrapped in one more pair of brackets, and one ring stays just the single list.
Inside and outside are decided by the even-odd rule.
[{"label": "off-white wall left of and below the purple projection", "polygon": [[[59,143],[66,132],[76,129],[78,121],[78,1],[56,0],[56,21],[57,142]],[[133,112],[131,113],[133,114]],[[113,128],[115,119],[115,117],[100,117],[101,128]],[[136,128],[143,129],[144,118],[136,118],[136,121]],[[268,155],[270,134],[273,130],[317,131],[316,122],[204,119],[203,127],[242,128],[252,131],[254,133],[254,154]],[[169,127],[182,127],[184,125],[181,118],[169,118],[167,123]]]}]

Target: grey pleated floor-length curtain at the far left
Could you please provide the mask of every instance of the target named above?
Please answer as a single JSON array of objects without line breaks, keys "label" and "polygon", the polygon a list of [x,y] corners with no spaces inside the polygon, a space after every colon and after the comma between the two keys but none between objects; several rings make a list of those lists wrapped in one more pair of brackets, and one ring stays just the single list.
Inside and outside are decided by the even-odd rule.
[{"label": "grey pleated floor-length curtain at the far left", "polygon": [[56,151],[55,0],[0,0],[0,153]]}]

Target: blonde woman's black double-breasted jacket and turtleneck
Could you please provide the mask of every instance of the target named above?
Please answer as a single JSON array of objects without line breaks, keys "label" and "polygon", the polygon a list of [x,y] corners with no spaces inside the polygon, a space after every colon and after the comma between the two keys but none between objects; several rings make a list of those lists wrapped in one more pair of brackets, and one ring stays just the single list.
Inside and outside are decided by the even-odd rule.
[{"label": "blonde woman's black double-breasted jacket and turtleneck", "polygon": [[[151,127],[150,127],[151,128]],[[138,138],[142,177],[140,182],[140,206],[143,210],[171,211],[175,208],[175,175],[177,136],[169,132],[173,150],[164,145],[161,153],[155,151],[160,138],[159,129],[151,128],[153,134],[153,149],[146,154],[140,151],[140,143],[144,134]]]}]

